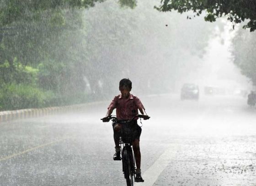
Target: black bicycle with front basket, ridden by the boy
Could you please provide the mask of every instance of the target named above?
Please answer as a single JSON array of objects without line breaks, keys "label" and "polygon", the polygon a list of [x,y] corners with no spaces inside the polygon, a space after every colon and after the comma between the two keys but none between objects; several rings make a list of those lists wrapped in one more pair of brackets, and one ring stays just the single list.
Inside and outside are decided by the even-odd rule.
[{"label": "black bicycle with front basket, ridden by the boy", "polygon": [[[147,115],[136,115],[131,120],[117,120],[117,117],[110,115],[108,121],[112,120],[112,125],[121,124],[119,144],[121,146],[123,174],[126,179],[127,186],[133,186],[133,178],[135,180],[135,155],[132,149],[132,126],[135,118],[149,119]],[[103,118],[102,118],[103,119]],[[101,119],[101,120],[102,120]]]}]

